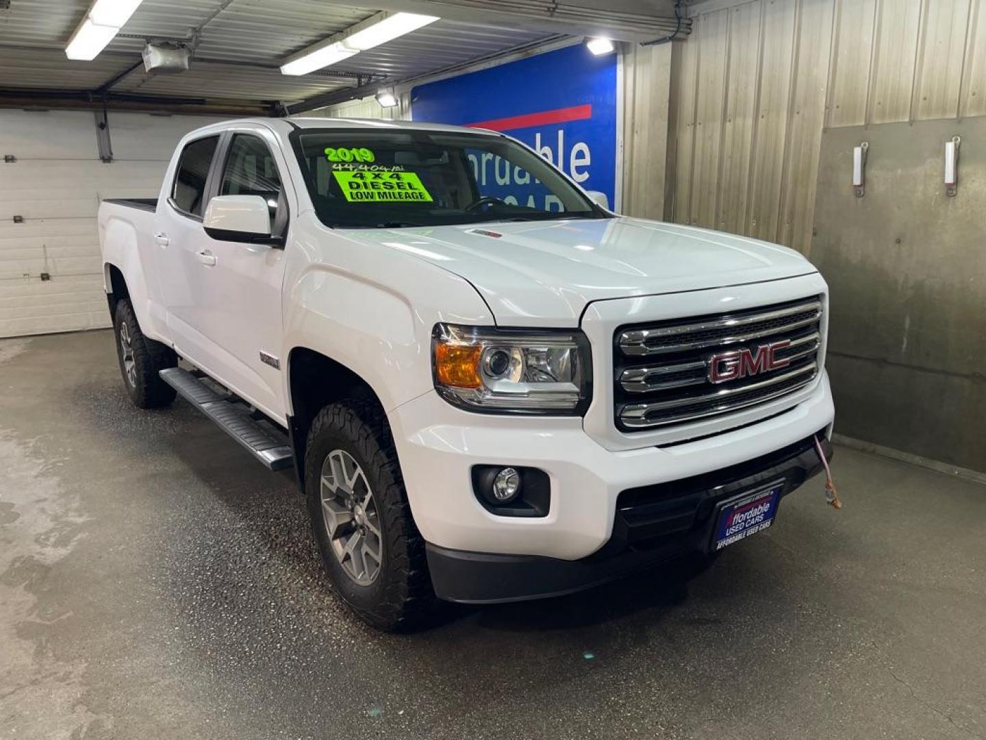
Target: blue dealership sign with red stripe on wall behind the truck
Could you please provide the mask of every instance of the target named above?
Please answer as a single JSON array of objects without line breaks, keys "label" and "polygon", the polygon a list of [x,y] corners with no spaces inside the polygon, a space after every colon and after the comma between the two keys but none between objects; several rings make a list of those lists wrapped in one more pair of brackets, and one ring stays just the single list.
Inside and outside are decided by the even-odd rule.
[{"label": "blue dealership sign with red stripe on wall behind the truck", "polygon": [[[580,43],[419,85],[411,90],[411,117],[503,131],[615,204],[615,54],[594,56]],[[518,179],[523,171],[512,173],[505,162],[473,164],[504,194],[522,203],[538,197],[535,183]]]}]

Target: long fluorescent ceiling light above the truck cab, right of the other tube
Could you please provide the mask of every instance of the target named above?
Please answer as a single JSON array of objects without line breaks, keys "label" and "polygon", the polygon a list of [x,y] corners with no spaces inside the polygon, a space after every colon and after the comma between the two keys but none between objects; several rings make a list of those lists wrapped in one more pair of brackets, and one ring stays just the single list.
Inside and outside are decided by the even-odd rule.
[{"label": "long fluorescent ceiling light above the truck cab, right of the other tube", "polygon": [[328,37],[291,55],[281,65],[281,72],[286,75],[307,75],[438,20],[437,16],[416,13],[378,13],[349,31]]}]

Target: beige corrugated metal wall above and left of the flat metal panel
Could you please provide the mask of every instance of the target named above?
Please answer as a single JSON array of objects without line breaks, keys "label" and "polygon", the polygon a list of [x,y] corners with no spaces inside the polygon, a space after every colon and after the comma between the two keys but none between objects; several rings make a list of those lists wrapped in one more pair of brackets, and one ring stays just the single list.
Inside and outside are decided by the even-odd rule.
[{"label": "beige corrugated metal wall above and left of the flat metal panel", "polygon": [[671,220],[808,253],[824,126],[986,115],[986,0],[692,12],[692,36],[674,44]]}]

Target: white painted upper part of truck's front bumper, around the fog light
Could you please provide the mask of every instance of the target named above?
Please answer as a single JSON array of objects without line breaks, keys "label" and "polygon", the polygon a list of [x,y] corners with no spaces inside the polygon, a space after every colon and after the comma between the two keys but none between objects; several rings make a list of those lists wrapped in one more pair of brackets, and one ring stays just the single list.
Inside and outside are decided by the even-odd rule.
[{"label": "white painted upper part of truck's front bumper, around the fog light", "polygon": [[[581,560],[614,534],[623,491],[720,471],[827,430],[822,374],[805,400],[769,418],[664,447],[610,450],[578,417],[500,416],[452,407],[432,392],[390,411],[411,512],[422,537],[453,551]],[[527,466],[550,481],[544,517],[499,516],[471,490],[477,465]]]}]

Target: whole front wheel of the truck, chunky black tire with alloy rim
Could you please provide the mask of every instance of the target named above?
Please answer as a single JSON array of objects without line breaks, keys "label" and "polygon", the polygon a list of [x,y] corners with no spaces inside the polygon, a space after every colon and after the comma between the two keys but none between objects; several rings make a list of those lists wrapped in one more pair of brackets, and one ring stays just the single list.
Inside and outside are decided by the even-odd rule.
[{"label": "whole front wheel of the truck, chunky black tire with alloy rim", "polygon": [[437,599],[383,409],[352,399],[318,412],[305,493],[318,551],[342,600],[378,629],[425,626]]}]

